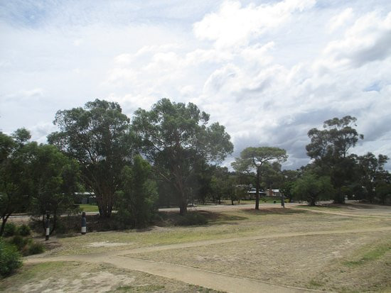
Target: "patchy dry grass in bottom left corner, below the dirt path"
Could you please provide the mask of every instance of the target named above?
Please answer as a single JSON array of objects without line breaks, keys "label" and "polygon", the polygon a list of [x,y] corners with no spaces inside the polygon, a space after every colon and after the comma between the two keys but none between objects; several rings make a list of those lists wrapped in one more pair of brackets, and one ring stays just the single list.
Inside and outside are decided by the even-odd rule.
[{"label": "patchy dry grass in bottom left corner, below the dirt path", "polygon": [[0,292],[217,292],[156,275],[107,264],[43,262],[24,265],[0,280]]}]

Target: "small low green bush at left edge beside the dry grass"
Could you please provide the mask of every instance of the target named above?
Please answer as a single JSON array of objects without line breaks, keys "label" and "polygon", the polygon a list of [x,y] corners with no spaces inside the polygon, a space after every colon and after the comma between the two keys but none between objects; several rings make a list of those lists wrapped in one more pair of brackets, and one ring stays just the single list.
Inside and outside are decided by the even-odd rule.
[{"label": "small low green bush at left edge beside the dry grass", "polygon": [[21,255],[16,247],[0,239],[0,275],[6,277],[21,265]]}]

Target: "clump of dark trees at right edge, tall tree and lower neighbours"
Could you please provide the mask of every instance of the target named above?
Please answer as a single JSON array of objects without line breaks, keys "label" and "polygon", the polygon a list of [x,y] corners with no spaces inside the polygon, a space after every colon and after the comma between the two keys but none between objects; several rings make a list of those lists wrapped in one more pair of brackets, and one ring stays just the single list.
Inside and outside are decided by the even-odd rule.
[{"label": "clump of dark trees at right edge, tall tree and lower neighbours", "polygon": [[350,150],[363,140],[355,128],[356,118],[333,118],[323,129],[312,128],[306,145],[312,162],[297,170],[285,189],[299,199],[315,204],[319,199],[343,203],[350,199],[365,199],[385,204],[391,199],[391,175],[384,169],[385,155],[356,155]]}]

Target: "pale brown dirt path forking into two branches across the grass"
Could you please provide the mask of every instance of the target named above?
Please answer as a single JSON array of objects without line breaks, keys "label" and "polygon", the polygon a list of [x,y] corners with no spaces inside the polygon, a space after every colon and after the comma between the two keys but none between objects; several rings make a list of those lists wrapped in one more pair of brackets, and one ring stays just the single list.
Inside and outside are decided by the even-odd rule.
[{"label": "pale brown dirt path forking into two branches across the grass", "polygon": [[193,267],[186,267],[183,265],[173,265],[166,262],[155,262],[150,260],[139,260],[136,258],[129,258],[123,255],[146,253],[159,250],[170,250],[177,248],[189,248],[202,245],[213,245],[218,243],[230,243],[237,241],[249,241],[264,238],[282,238],[294,236],[311,236],[311,235],[330,235],[341,233],[368,233],[373,231],[391,231],[390,227],[383,228],[366,228],[366,229],[351,229],[351,230],[337,230],[337,231],[312,231],[304,233],[277,233],[266,236],[250,236],[241,238],[220,239],[214,241],[197,241],[191,243],[178,243],[171,245],[159,245],[149,248],[135,248],[132,250],[120,250],[107,253],[89,253],[84,255],[61,255],[57,257],[30,257],[26,258],[28,263],[50,262],[50,261],[77,261],[77,262],[105,262],[117,267],[122,267],[130,270],[138,270],[147,272],[152,275],[159,275],[161,277],[168,277],[170,279],[186,282],[188,284],[195,284],[210,289],[220,290],[224,292],[240,293],[240,292],[316,292],[316,290],[287,287],[279,284],[272,284],[269,282],[262,282],[259,280],[252,280],[242,277],[235,277],[225,275],[218,272],[209,272],[207,270],[200,270]]}]

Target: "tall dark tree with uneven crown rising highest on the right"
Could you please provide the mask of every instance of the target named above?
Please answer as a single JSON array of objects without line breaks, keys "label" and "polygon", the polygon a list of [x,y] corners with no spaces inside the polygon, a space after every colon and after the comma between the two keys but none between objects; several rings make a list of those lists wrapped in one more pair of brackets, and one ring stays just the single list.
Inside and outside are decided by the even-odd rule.
[{"label": "tall dark tree with uneven crown rising highest on the right", "polygon": [[355,166],[355,158],[348,155],[348,151],[364,138],[353,128],[355,121],[357,119],[352,116],[332,118],[324,121],[323,130],[312,128],[308,132],[311,143],[306,145],[307,155],[320,167],[321,175],[331,177],[336,189],[334,201],[337,203],[344,202],[341,189],[353,179],[353,172],[349,171]]}]

